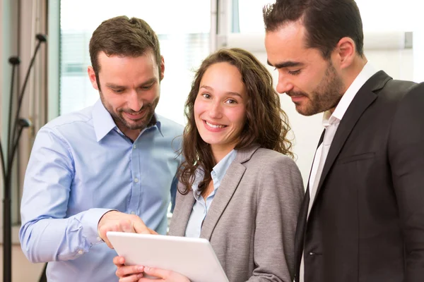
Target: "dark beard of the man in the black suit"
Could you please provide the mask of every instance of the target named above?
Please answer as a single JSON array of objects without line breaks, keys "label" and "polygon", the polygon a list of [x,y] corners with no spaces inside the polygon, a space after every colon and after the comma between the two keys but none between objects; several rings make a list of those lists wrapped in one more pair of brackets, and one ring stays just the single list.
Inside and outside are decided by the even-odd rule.
[{"label": "dark beard of the man in the black suit", "polygon": [[289,91],[288,96],[305,96],[307,102],[305,104],[295,103],[296,111],[304,116],[312,116],[314,114],[328,111],[337,106],[343,96],[344,83],[337,75],[336,69],[330,62],[326,68],[323,80],[315,88],[315,90],[307,94],[305,92]]}]

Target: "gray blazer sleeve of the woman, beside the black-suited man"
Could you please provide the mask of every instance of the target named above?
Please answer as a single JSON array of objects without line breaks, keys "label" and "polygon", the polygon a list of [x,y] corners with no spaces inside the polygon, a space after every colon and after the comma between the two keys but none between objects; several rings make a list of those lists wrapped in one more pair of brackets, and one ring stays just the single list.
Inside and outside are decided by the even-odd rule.
[{"label": "gray blazer sleeve of the woman, beside the black-suited man", "polygon": [[254,264],[248,281],[293,281],[295,228],[304,195],[295,162],[278,155],[258,173]]}]

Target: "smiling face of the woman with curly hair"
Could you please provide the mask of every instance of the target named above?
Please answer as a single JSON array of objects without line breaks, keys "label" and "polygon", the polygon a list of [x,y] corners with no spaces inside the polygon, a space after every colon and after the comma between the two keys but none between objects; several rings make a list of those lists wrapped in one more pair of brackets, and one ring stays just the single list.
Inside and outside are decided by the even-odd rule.
[{"label": "smiling face of the woman with curly hair", "polygon": [[247,93],[242,75],[230,63],[214,63],[201,78],[194,118],[201,139],[212,151],[230,152],[246,121]]}]

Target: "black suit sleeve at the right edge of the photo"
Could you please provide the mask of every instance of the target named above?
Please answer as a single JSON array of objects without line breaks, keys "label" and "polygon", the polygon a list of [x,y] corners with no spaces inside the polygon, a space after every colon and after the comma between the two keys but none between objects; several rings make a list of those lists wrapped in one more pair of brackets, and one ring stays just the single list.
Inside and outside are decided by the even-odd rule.
[{"label": "black suit sleeve at the right edge of the photo", "polygon": [[424,83],[402,99],[389,136],[389,164],[404,235],[405,282],[424,277]]}]

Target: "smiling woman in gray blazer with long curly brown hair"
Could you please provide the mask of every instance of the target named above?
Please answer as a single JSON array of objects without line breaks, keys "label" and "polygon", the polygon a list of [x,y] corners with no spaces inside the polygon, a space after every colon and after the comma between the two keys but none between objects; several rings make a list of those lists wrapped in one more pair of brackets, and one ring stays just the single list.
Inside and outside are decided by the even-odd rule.
[{"label": "smiling woman in gray blazer with long curly brown hair", "polygon": [[[302,178],[269,71],[249,52],[221,49],[197,71],[170,235],[206,238],[230,282],[293,281]],[[120,282],[141,278],[116,257]],[[189,281],[145,267],[161,281]]]}]

